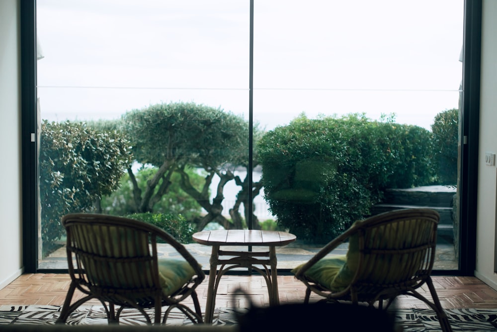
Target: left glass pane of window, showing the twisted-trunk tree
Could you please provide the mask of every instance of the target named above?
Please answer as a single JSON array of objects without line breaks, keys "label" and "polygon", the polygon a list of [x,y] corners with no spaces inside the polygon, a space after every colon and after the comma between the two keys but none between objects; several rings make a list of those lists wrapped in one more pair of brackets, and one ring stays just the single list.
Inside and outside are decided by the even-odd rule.
[{"label": "left glass pane of window, showing the twisted-trunk tree", "polygon": [[[248,20],[241,1],[37,1],[39,268],[67,266],[59,220],[68,212],[172,213],[159,226],[185,242],[231,220],[234,177],[247,174],[236,163],[248,160]],[[102,131],[97,149],[82,147]]]}]

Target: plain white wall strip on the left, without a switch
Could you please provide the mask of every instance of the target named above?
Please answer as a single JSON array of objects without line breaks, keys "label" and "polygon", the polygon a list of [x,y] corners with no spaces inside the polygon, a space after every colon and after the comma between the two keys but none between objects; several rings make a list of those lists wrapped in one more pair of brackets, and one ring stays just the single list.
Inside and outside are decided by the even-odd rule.
[{"label": "plain white wall strip on the left, without a switch", "polygon": [[0,288],[22,272],[19,1],[0,0]]}]

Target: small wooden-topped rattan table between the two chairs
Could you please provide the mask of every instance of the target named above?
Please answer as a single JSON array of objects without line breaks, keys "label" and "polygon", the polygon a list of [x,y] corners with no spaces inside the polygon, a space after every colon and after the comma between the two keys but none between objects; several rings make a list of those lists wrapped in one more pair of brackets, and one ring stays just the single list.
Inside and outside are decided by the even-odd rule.
[{"label": "small wooden-topped rattan table between the two chairs", "polygon": [[[256,230],[216,230],[193,234],[193,240],[199,244],[212,246],[209,272],[209,288],[205,307],[205,323],[212,323],[216,293],[223,274],[233,268],[248,267],[259,272],[266,281],[269,304],[279,304],[278,279],[276,278],[276,249],[294,242],[297,237],[286,232]],[[226,251],[220,246],[263,246],[269,251]],[[220,258],[220,256],[229,256]],[[221,265],[219,271],[218,265]],[[257,265],[262,265],[262,268]],[[269,268],[268,268],[269,266]]]}]

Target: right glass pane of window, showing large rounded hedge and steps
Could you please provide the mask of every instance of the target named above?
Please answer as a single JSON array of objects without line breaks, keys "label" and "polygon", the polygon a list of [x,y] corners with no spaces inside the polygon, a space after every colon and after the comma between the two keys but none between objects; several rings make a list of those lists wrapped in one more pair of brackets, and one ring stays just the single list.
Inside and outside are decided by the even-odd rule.
[{"label": "right glass pane of window, showing large rounded hedge and steps", "polygon": [[[262,140],[265,197],[273,218],[297,235],[288,248],[303,249],[296,257],[281,255],[278,266],[306,261],[356,219],[427,206],[441,215],[435,268],[457,269],[452,198],[463,1],[257,1],[254,11],[253,114],[274,133]],[[445,111],[452,109],[448,119]],[[342,119],[348,114],[358,115]],[[430,145],[439,114],[445,117],[437,124],[451,134],[455,130],[449,162],[436,153],[440,147]],[[363,117],[378,122],[379,129],[361,127]],[[323,124],[329,118],[341,135],[319,131],[329,131]],[[392,127],[411,130],[412,136],[395,134],[403,140],[395,146],[388,136],[394,135]],[[324,140],[330,140],[328,146]],[[371,146],[361,147],[356,140]],[[386,158],[381,149],[388,151],[388,163],[380,159]],[[419,165],[427,163],[432,165]],[[456,177],[444,176],[450,171]]]}]

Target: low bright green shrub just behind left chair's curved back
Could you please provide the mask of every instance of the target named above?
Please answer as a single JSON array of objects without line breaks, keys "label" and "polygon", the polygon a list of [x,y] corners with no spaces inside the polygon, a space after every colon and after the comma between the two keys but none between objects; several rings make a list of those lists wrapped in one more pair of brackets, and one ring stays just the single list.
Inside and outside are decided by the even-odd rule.
[{"label": "low bright green shrub just behind left chair's curved back", "polygon": [[172,235],[182,244],[192,243],[191,236],[195,233],[193,226],[181,215],[172,213],[134,213],[126,218],[144,221],[157,226]]}]

